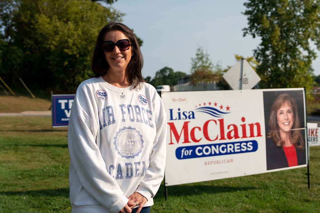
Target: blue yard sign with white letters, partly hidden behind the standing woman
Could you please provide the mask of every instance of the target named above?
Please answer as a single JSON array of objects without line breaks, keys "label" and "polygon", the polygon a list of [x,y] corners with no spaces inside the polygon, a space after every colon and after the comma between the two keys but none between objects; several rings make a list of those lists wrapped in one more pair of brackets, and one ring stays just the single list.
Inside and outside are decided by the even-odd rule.
[{"label": "blue yard sign with white letters, partly hidden behind the standing woman", "polygon": [[52,127],[67,127],[75,95],[52,95]]}]

